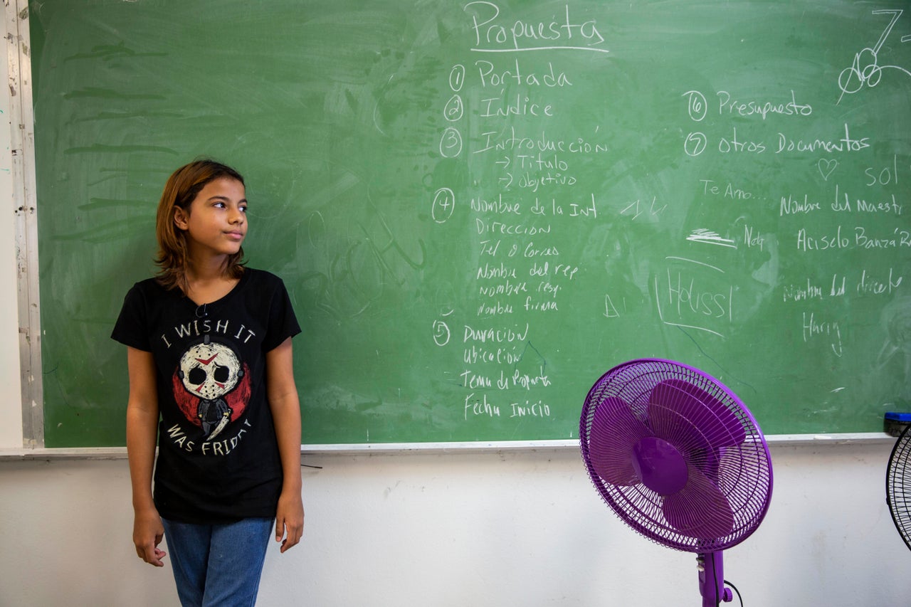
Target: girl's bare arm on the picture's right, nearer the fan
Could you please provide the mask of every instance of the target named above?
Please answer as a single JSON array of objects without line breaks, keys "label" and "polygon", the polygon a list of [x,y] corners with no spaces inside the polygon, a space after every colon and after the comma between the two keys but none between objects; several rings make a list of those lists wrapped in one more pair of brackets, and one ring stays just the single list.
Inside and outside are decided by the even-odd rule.
[{"label": "girl's bare arm on the picture's right, nearer the fan", "polygon": [[284,478],[275,514],[275,540],[281,541],[284,552],[303,533],[301,404],[294,385],[291,337],[266,353],[266,386]]}]

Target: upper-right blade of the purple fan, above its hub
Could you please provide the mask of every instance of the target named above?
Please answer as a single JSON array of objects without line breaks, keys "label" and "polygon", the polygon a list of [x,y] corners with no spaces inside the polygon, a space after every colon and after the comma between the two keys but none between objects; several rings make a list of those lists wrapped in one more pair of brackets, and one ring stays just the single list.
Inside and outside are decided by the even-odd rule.
[{"label": "upper-right blade of the purple fan, above its hub", "polygon": [[740,419],[722,401],[682,379],[665,379],[652,389],[649,425],[655,436],[689,450],[734,447],[746,438]]}]

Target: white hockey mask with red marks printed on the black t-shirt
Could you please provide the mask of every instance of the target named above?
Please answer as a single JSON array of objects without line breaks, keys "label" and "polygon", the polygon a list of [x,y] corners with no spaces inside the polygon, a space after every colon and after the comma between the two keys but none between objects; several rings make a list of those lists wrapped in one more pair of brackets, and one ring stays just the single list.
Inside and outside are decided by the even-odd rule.
[{"label": "white hockey mask with red marks printed on the black t-shirt", "polygon": [[204,400],[228,394],[237,386],[241,376],[241,361],[226,345],[193,345],[180,358],[183,386]]}]

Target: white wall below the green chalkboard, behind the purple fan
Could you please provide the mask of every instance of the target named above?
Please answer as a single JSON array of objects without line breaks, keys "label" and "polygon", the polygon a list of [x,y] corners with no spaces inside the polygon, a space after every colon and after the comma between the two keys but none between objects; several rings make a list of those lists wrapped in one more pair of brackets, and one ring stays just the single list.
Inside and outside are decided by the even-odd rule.
[{"label": "white wall below the green chalkboard, behind the purple fan", "polygon": [[[889,449],[773,447],[772,508],[725,552],[746,605],[911,602]],[[575,449],[303,461],[304,538],[270,550],[261,607],[701,604],[694,555],[627,528]],[[0,488],[0,605],[177,604],[132,548],[125,460],[7,460]]]}]

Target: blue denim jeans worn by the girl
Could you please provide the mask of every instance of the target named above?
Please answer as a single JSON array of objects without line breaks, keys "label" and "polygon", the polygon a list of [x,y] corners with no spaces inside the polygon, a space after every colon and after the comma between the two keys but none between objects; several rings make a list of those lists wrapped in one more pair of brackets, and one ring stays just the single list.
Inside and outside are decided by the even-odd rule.
[{"label": "blue denim jeans worn by the girl", "polygon": [[161,522],[183,607],[252,607],[260,588],[271,519],[224,525]]}]

